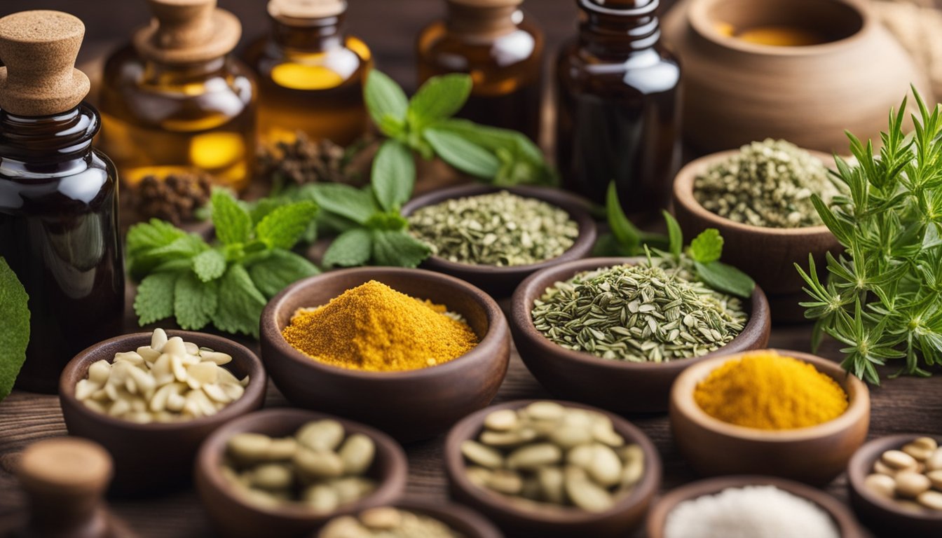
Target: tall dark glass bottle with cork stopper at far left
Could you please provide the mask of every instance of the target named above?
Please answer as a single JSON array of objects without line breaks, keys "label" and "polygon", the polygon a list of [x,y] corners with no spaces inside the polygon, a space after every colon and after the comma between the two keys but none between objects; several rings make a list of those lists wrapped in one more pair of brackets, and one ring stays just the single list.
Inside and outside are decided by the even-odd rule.
[{"label": "tall dark glass bottle with cork stopper at far left", "polygon": [[75,353],[121,332],[117,174],[91,147],[99,118],[73,69],[84,33],[58,11],[0,19],[0,256],[29,295],[26,390],[55,392]]}]

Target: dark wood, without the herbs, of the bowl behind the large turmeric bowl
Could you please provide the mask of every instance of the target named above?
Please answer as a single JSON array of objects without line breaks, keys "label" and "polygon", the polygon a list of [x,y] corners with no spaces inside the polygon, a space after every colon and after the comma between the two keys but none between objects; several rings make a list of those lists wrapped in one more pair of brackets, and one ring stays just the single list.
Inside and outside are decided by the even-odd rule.
[{"label": "dark wood, without the herbs, of the bowl behind the large turmeric bowl", "polygon": [[402,207],[402,214],[408,217],[420,207],[439,204],[453,198],[479,196],[481,194],[500,192],[501,190],[507,190],[512,194],[524,198],[542,200],[546,203],[556,205],[569,213],[569,217],[572,220],[576,220],[579,225],[579,235],[576,237],[576,242],[573,243],[573,246],[570,247],[568,251],[561,253],[555,258],[526,266],[495,267],[462,264],[448,261],[438,256],[430,256],[429,259],[422,263],[422,267],[458,277],[473,285],[477,285],[479,288],[499,299],[502,297],[510,297],[517,285],[534,272],[559,265],[563,262],[584,258],[592,252],[593,245],[595,244],[596,231],[595,221],[592,215],[589,214],[589,203],[575,194],[570,194],[558,188],[494,187],[480,184],[442,188],[419,196],[408,204],[405,204]]}]

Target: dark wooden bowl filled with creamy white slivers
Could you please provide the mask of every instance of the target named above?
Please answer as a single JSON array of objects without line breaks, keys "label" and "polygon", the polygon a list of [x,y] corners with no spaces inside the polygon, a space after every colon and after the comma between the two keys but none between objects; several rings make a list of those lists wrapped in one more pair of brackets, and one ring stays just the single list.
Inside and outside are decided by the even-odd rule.
[{"label": "dark wooden bowl filled with creamy white slivers", "polygon": [[262,406],[268,376],[251,350],[188,331],[117,336],[75,355],[59,378],[72,435],[111,453],[111,490],[146,496],[185,484],[211,432]]}]

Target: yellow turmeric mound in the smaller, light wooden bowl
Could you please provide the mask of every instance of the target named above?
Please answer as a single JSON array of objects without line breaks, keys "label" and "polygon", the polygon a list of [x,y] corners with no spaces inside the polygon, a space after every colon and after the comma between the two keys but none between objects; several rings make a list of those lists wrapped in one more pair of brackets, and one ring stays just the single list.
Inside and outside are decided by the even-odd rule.
[{"label": "yellow turmeric mound in the smaller, light wooden bowl", "polygon": [[707,415],[760,430],[827,422],[847,410],[847,393],[813,365],[755,351],[727,361],[697,384],[693,399]]}]

